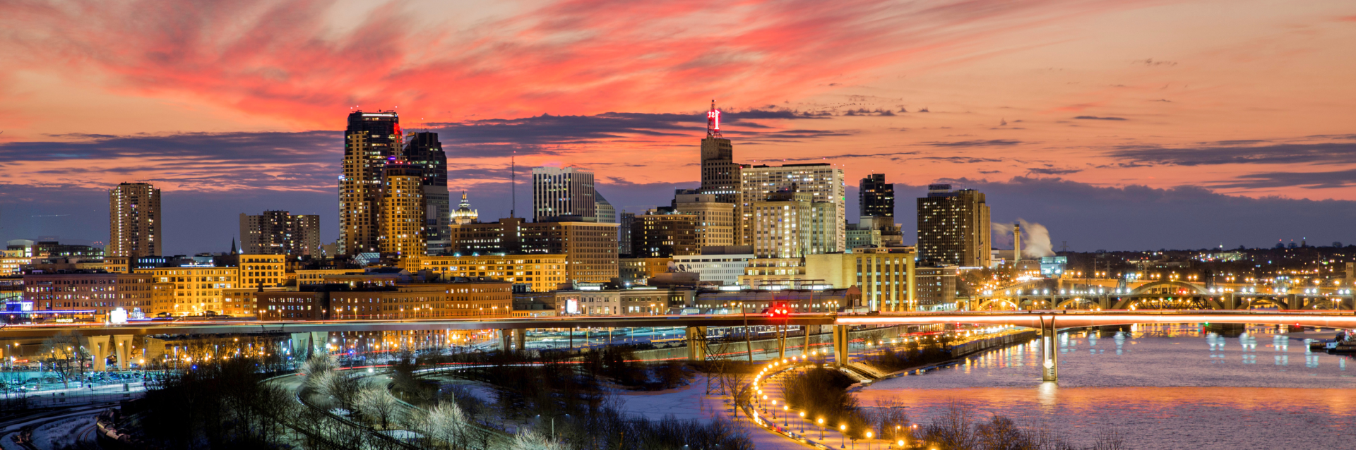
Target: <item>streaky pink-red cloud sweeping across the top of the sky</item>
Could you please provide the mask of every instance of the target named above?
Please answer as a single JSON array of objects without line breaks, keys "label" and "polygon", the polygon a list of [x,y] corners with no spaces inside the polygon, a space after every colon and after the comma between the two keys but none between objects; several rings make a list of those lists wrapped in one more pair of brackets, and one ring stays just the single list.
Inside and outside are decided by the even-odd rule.
[{"label": "streaky pink-red cloud sweeping across the top of the sky", "polygon": [[1123,4],[567,0],[460,30],[382,7],[335,31],[330,0],[19,3],[0,19],[14,30],[0,42],[24,64],[117,92],[334,129],[355,104],[403,106],[435,122],[781,102],[925,52]]}]

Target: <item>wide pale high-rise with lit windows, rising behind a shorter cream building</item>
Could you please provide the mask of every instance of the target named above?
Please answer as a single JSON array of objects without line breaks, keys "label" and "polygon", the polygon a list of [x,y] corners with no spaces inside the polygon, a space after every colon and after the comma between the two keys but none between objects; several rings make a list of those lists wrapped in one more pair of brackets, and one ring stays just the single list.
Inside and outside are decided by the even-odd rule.
[{"label": "wide pale high-rise with lit windows, rising behind a shorter cream building", "polygon": [[[830,164],[786,164],[786,165],[751,165],[744,167],[740,175],[739,210],[739,243],[751,245],[754,234],[754,213],[749,210],[753,202],[761,202],[767,194],[793,190],[795,192],[810,194],[811,202],[827,202],[834,206],[833,233],[824,248],[826,252],[841,252],[848,245],[846,186],[843,184],[843,169]],[[739,244],[736,243],[736,244]]]}]

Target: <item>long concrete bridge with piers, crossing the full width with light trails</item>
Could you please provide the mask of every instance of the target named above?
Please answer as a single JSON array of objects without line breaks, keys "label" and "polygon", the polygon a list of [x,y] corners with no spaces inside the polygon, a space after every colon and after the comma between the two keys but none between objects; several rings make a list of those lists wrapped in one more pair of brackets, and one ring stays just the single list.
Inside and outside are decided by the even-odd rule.
[{"label": "long concrete bridge with piers, crossing the full width with light trails", "polygon": [[[687,358],[702,361],[706,327],[744,325],[829,325],[833,327],[835,361],[848,361],[848,332],[858,325],[936,325],[980,324],[1012,325],[1041,331],[1041,380],[1056,381],[1059,375],[1055,335],[1062,328],[1128,325],[1128,324],[1265,324],[1356,328],[1356,313],[1321,310],[1020,310],[1020,312],[960,312],[960,313],[881,313],[871,316],[793,314],[766,316],[607,316],[607,317],[540,317],[540,319],[475,319],[475,320],[334,320],[334,321],[240,321],[240,323],[141,323],[127,325],[9,325],[0,328],[0,339],[73,336],[81,342],[104,343],[99,348],[119,351],[113,343],[126,342],[127,335],[235,335],[235,333],[290,333],[293,340],[324,342],[330,332],[370,331],[468,331],[499,329],[500,344],[510,350],[525,348],[523,332],[533,328],[622,328],[622,327],[679,327],[687,333]],[[515,343],[511,340],[515,340]],[[103,351],[100,351],[103,352]],[[94,355],[99,358],[99,354]],[[121,356],[121,355],[119,355]],[[126,369],[123,358],[119,365]]]}]

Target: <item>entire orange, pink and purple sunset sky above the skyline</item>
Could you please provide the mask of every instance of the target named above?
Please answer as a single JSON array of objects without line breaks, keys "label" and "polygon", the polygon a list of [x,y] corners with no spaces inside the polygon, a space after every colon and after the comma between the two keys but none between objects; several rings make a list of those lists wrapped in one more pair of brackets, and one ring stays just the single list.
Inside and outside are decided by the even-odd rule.
[{"label": "entire orange, pink and purple sunset sky above the skyline", "polygon": [[[165,192],[167,253],[222,251],[233,234],[231,218],[264,209],[319,214],[323,240],[332,241],[338,236],[334,176],[343,150],[339,117],[357,108],[396,110],[407,129],[438,133],[447,152],[447,190],[471,192],[483,220],[509,216],[511,152],[518,152],[523,168],[590,169],[618,214],[639,213],[664,205],[674,188],[700,186],[701,126],[715,98],[724,111],[723,136],[738,148],[736,163],[827,161],[843,168],[848,180],[885,173],[900,199],[925,195],[934,182],[978,188],[990,195],[995,222],[1044,224],[1056,249],[1062,241],[1092,251],[1353,240],[1341,225],[1356,220],[1351,188],[1356,138],[1344,114],[1351,103],[1344,99],[1353,89],[1341,83],[1352,62],[1336,57],[1356,42],[1351,39],[1356,11],[1348,5],[1276,8],[1248,1],[1233,4],[1234,14],[1216,18],[1219,23],[1199,23],[1215,18],[1215,9],[1200,1],[1016,3],[965,11],[948,5],[955,7],[915,11],[852,3],[830,12],[814,4],[755,3],[723,20],[795,14],[731,28],[721,42],[700,38],[700,27],[658,37],[622,23],[673,24],[663,16],[719,8],[701,3],[632,9],[626,20],[597,23],[545,18],[601,14],[602,3],[488,8],[456,19],[449,18],[466,8],[426,5],[420,9],[426,18],[416,22],[407,20],[414,15],[408,8],[357,19],[362,8],[336,15],[327,12],[338,7],[325,4],[231,5],[222,14],[273,11],[298,20],[286,34],[254,38],[263,43],[258,49],[229,54],[244,62],[239,70],[255,70],[218,73],[239,75],[235,91],[203,84],[201,68],[140,53],[102,56],[81,75],[45,77],[130,28],[95,20],[91,26],[102,39],[37,33],[65,23],[62,18],[73,12],[15,8],[0,20],[39,38],[0,50],[27,62],[0,91],[11,100],[0,107],[0,115],[11,118],[0,134],[0,164],[7,168],[0,180],[7,194],[0,199],[0,239],[103,240],[107,222],[98,211],[99,192],[145,180]],[[96,8],[108,18],[130,14]],[[144,12],[140,20],[210,16],[180,9]],[[814,27],[797,22],[815,14],[826,19]],[[1130,24],[1127,18],[1140,22]],[[868,19],[879,23],[862,27]],[[923,19],[934,24],[925,26]],[[525,73],[513,70],[503,80],[465,70],[428,75],[456,60],[447,57],[408,68],[354,68],[370,88],[308,84],[332,80],[332,70],[346,68],[332,57],[344,47],[389,45],[392,56],[363,56],[367,62],[412,56],[412,37],[437,20],[456,24],[456,31],[434,38],[434,47],[443,50],[464,49],[458,38],[487,24],[541,31],[537,38],[527,31],[488,33],[487,42],[521,46],[522,53],[490,58],[479,68],[509,70],[506,58],[519,56],[527,58],[526,66],[560,69],[564,76],[523,83]],[[350,27],[327,28],[335,23]],[[399,30],[410,23],[415,26],[381,38],[353,28]],[[557,42],[579,31],[597,33],[597,42]],[[245,43],[220,27],[167,43],[175,33],[188,31],[153,28],[137,43],[164,43],[186,61],[206,52],[187,42]],[[317,46],[312,70],[283,61],[302,52],[286,39]],[[659,52],[673,39],[711,46],[663,53],[658,61],[579,64],[595,54],[629,61],[635,52]],[[616,46],[621,41],[643,45]],[[568,52],[556,62],[529,58],[548,46]],[[1246,52],[1257,47],[1265,52]],[[14,49],[52,50],[58,57],[38,61],[31,54],[43,52],[14,54]],[[830,49],[848,52],[830,54]],[[163,73],[155,85],[130,79],[152,69]],[[277,85],[259,81],[258,73],[270,69],[278,70]],[[376,77],[378,72],[391,76]],[[94,80],[83,77],[88,73],[99,75],[94,77],[99,81],[88,83]],[[658,73],[670,83],[640,85],[639,73]],[[449,80],[480,84],[452,92],[442,88]],[[384,88],[397,83],[403,89]],[[278,91],[283,88],[293,91],[283,95]],[[79,110],[69,106],[75,95],[81,99]],[[129,107],[138,111],[137,121],[114,114]],[[85,164],[71,167],[72,160]],[[530,205],[525,187],[519,186],[519,206]],[[854,186],[848,197],[856,197]],[[846,205],[849,218],[856,216],[854,203]],[[896,210],[906,241],[915,236],[907,203]],[[1173,217],[1176,228],[1128,220],[1147,214]]]}]

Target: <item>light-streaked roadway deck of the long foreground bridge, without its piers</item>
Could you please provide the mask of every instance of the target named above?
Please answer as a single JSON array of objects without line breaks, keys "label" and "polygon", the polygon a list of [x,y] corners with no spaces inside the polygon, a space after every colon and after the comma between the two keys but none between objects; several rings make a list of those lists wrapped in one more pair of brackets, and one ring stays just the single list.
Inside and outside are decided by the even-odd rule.
[{"label": "light-streaked roadway deck of the long foreground bridge, without its piers", "polygon": [[773,319],[744,316],[606,316],[606,317],[534,317],[534,319],[462,319],[462,320],[328,320],[328,321],[172,321],[130,323],[123,325],[7,325],[0,338],[42,338],[54,335],[214,335],[248,332],[357,332],[412,329],[522,329],[570,327],[743,327],[749,325],[928,325],[984,324],[1041,328],[1054,320],[1055,328],[1127,325],[1127,324],[1267,324],[1356,328],[1353,312],[1303,310],[1025,310],[963,313],[881,313],[877,316],[792,314]]}]

